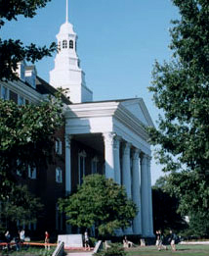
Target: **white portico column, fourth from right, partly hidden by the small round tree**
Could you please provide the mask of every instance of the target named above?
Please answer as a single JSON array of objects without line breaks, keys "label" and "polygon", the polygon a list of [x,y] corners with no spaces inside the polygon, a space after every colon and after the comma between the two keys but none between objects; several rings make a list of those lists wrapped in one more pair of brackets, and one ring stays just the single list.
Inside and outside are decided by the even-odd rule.
[{"label": "white portico column, fourth from right, partly hidden by the small round tree", "polygon": [[[132,198],[131,193],[131,162],[130,162],[131,143],[125,142],[122,154],[122,179],[126,188],[128,198]],[[132,227],[125,230],[126,234],[132,234]]]}]

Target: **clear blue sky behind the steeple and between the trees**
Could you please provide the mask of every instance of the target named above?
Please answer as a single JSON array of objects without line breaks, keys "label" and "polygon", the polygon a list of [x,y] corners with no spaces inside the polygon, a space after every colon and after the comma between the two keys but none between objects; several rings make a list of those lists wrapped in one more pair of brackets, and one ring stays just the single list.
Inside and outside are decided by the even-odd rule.
[{"label": "clear blue sky behind the steeple and between the trees", "polygon": [[[170,21],[178,17],[170,0],[69,0],[69,22],[78,35],[78,56],[94,100],[143,97],[155,123],[158,110],[147,86],[154,60],[169,60]],[[6,23],[1,37],[49,46],[65,22],[65,0],[52,0],[33,19]],[[49,80],[54,57],[36,63]],[[160,166],[152,161],[152,183]]]}]

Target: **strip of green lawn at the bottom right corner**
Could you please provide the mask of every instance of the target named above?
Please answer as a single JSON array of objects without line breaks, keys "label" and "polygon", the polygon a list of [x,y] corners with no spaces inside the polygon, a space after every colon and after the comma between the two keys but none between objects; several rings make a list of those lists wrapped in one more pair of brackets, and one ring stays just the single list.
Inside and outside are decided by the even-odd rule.
[{"label": "strip of green lawn at the bottom right corner", "polygon": [[168,250],[158,251],[156,246],[135,247],[127,250],[127,255],[133,256],[171,256],[171,255],[185,255],[185,256],[209,256],[209,245],[177,245],[177,251]]}]

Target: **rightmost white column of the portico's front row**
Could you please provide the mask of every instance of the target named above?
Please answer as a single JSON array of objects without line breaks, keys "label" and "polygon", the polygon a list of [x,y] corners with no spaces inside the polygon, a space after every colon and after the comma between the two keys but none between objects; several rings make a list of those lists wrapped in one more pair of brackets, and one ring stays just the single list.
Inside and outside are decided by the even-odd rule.
[{"label": "rightmost white column of the portico's front row", "polygon": [[152,193],[151,193],[151,175],[150,175],[150,161],[151,157],[147,156],[147,189],[148,189],[148,225],[149,235],[153,236],[153,216],[152,216]]}]

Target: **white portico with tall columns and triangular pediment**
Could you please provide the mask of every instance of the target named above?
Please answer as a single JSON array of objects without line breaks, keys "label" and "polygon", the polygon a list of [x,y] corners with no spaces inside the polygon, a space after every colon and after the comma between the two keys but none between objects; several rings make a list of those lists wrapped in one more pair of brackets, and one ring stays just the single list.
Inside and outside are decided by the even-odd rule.
[{"label": "white portico with tall columns and triangular pediment", "polygon": [[[145,126],[153,124],[143,100],[72,104],[68,106],[65,118],[67,143],[70,144],[73,137],[80,141],[83,138],[84,143],[99,150],[104,156],[105,177],[123,184],[128,197],[139,208],[133,226],[125,233],[152,236],[150,147]],[[66,189],[70,190],[74,168],[70,164],[70,147],[67,148]]]}]

